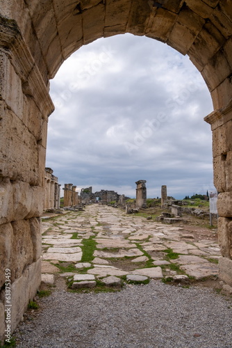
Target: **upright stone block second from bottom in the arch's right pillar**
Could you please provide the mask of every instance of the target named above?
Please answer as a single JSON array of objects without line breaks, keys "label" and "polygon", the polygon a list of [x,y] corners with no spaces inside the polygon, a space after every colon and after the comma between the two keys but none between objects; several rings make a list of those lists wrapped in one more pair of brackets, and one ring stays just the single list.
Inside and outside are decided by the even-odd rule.
[{"label": "upright stone block second from bottom in the arch's right pillar", "polygon": [[230,246],[229,246],[229,226],[231,219],[219,217],[218,219],[218,244],[221,250],[222,256],[230,257]]}]

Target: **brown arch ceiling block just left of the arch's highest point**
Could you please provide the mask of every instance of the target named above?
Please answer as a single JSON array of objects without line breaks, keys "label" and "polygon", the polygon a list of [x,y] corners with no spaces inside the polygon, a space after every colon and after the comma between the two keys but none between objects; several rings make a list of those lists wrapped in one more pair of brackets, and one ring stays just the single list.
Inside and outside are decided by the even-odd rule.
[{"label": "brown arch ceiling block just left of the arch's highest point", "polygon": [[[130,1],[109,0],[106,2],[106,27],[126,24],[131,8]],[[112,28],[113,29],[113,28]]]}]

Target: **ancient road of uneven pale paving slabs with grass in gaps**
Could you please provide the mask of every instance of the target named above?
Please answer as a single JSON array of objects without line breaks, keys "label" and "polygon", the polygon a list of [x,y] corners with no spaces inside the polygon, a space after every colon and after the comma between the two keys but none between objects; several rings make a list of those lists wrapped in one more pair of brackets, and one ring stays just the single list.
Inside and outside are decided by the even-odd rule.
[{"label": "ancient road of uneven pale paving slabs with grass in gaps", "polygon": [[75,289],[94,287],[96,280],[119,285],[122,276],[124,280],[189,276],[199,280],[218,274],[216,242],[193,239],[184,228],[113,207],[95,204],[84,212],[69,212],[45,221],[42,232],[45,283],[54,283],[59,275],[69,278]]}]

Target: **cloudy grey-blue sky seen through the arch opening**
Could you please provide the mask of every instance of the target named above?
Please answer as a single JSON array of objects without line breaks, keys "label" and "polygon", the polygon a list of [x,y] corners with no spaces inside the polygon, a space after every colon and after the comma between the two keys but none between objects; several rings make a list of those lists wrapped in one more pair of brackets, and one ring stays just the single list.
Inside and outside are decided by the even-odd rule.
[{"label": "cloudy grey-blue sky seen through the arch opening", "polygon": [[[131,34],[99,39],[51,80],[47,167],[60,184],[135,197],[213,189],[208,88],[188,56]],[[63,196],[63,192],[61,193]]]}]

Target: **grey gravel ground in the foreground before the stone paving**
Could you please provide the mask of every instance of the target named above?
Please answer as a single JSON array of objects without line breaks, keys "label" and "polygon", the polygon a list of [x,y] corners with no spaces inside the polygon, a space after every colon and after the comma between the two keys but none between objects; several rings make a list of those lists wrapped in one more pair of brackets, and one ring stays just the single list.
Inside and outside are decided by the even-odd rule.
[{"label": "grey gravel ground in the foreground before the stone paving", "polygon": [[17,347],[232,347],[232,301],[209,289],[151,280],[114,293],[55,290],[40,306],[33,322],[19,324]]}]

